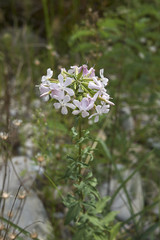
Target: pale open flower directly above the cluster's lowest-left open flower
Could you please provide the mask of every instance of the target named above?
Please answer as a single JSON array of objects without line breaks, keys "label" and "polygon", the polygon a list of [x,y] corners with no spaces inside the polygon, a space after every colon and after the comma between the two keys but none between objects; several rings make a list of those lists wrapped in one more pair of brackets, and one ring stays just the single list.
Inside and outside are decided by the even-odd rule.
[{"label": "pale open flower directly above the cluster's lowest-left open flower", "polygon": [[59,89],[61,89],[63,92],[67,92],[70,96],[74,95],[74,91],[71,88],[68,88],[67,86],[71,85],[72,83],[72,78],[67,77],[66,80],[64,81],[64,78],[62,76],[62,74],[58,75],[58,86]]}]

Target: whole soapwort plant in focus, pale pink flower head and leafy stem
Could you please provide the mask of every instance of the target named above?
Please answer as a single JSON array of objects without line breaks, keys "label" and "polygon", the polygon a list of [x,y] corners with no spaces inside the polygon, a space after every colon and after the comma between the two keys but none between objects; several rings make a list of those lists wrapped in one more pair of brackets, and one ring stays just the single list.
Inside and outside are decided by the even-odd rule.
[{"label": "whole soapwort plant in focus, pale pink flower head and leafy stem", "polygon": [[72,192],[63,197],[68,208],[65,223],[73,227],[74,240],[113,240],[119,228],[119,224],[112,224],[116,212],[103,213],[109,197],[101,198],[97,191],[97,180],[91,169],[93,148],[86,147],[91,137],[88,130],[82,129],[86,119],[97,123],[101,115],[109,112],[110,105],[114,105],[107,84],[103,69],[98,77],[93,67],[82,65],[72,66],[68,71],[62,68],[58,79],[53,78],[49,68],[38,86],[44,101],[53,102],[63,115],[71,112],[78,123],[72,128],[74,147],[72,155],[67,157],[64,175],[72,183]]}]

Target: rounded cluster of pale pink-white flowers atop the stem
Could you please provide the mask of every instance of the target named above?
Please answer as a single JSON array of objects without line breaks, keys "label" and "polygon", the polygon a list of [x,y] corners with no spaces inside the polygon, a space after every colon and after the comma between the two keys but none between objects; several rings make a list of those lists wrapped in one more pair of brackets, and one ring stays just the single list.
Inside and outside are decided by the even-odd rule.
[{"label": "rounded cluster of pale pink-white flowers atop the stem", "polygon": [[87,65],[72,66],[68,71],[61,69],[58,79],[53,78],[53,71],[49,68],[47,75],[42,76],[39,86],[40,96],[44,101],[52,99],[56,109],[68,114],[68,108],[73,115],[81,115],[83,118],[94,117],[94,122],[99,121],[99,116],[109,112],[110,105],[114,105],[109,99],[106,86],[108,79],[100,70],[100,77],[95,75],[95,69],[88,69]]}]

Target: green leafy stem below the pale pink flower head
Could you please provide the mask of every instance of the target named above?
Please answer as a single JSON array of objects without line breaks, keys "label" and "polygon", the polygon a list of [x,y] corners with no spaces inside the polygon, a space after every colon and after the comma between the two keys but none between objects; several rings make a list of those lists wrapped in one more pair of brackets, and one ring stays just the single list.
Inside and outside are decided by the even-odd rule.
[{"label": "green leafy stem below the pale pink flower head", "polygon": [[[79,120],[80,121],[80,120]],[[79,122],[79,124],[81,124]],[[81,128],[80,128],[81,129]],[[74,184],[73,193],[64,198],[64,204],[68,208],[65,224],[74,224],[73,239],[108,239],[109,231],[112,229],[112,223],[117,212],[107,212],[104,216],[104,208],[110,198],[100,198],[97,191],[97,179],[93,177],[90,162],[86,163],[87,155],[90,155],[91,148],[85,148],[83,151],[82,143],[86,144],[89,139],[89,131],[81,130],[78,134],[75,128],[72,128],[74,148],[77,149],[76,157],[68,157],[68,167],[65,178],[71,179]],[[84,154],[85,152],[85,154]],[[112,239],[116,235],[116,230],[112,231]]]}]

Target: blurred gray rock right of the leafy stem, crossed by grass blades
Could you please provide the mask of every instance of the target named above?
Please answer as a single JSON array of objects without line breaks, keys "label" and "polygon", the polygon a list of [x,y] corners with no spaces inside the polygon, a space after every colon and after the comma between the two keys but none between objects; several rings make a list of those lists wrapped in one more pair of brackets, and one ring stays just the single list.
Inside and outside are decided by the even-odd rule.
[{"label": "blurred gray rock right of the leafy stem, crossed by grass blades", "polygon": [[[123,180],[130,176],[132,172],[133,172],[132,170],[121,170],[121,176]],[[108,187],[110,187],[110,195],[112,196],[119,186],[120,186],[119,181],[117,179],[112,179],[110,182],[110,186],[108,186],[108,183],[104,183],[103,185],[100,186],[100,194],[102,197],[106,196],[108,192]],[[140,174],[136,173],[126,183],[125,187],[127,194],[124,188],[122,188],[118,192],[111,206],[111,210],[119,211],[117,217],[122,221],[125,221],[132,216],[132,210],[133,213],[136,214],[140,212],[144,207],[144,196]],[[132,210],[127,195],[130,199]]]}]

